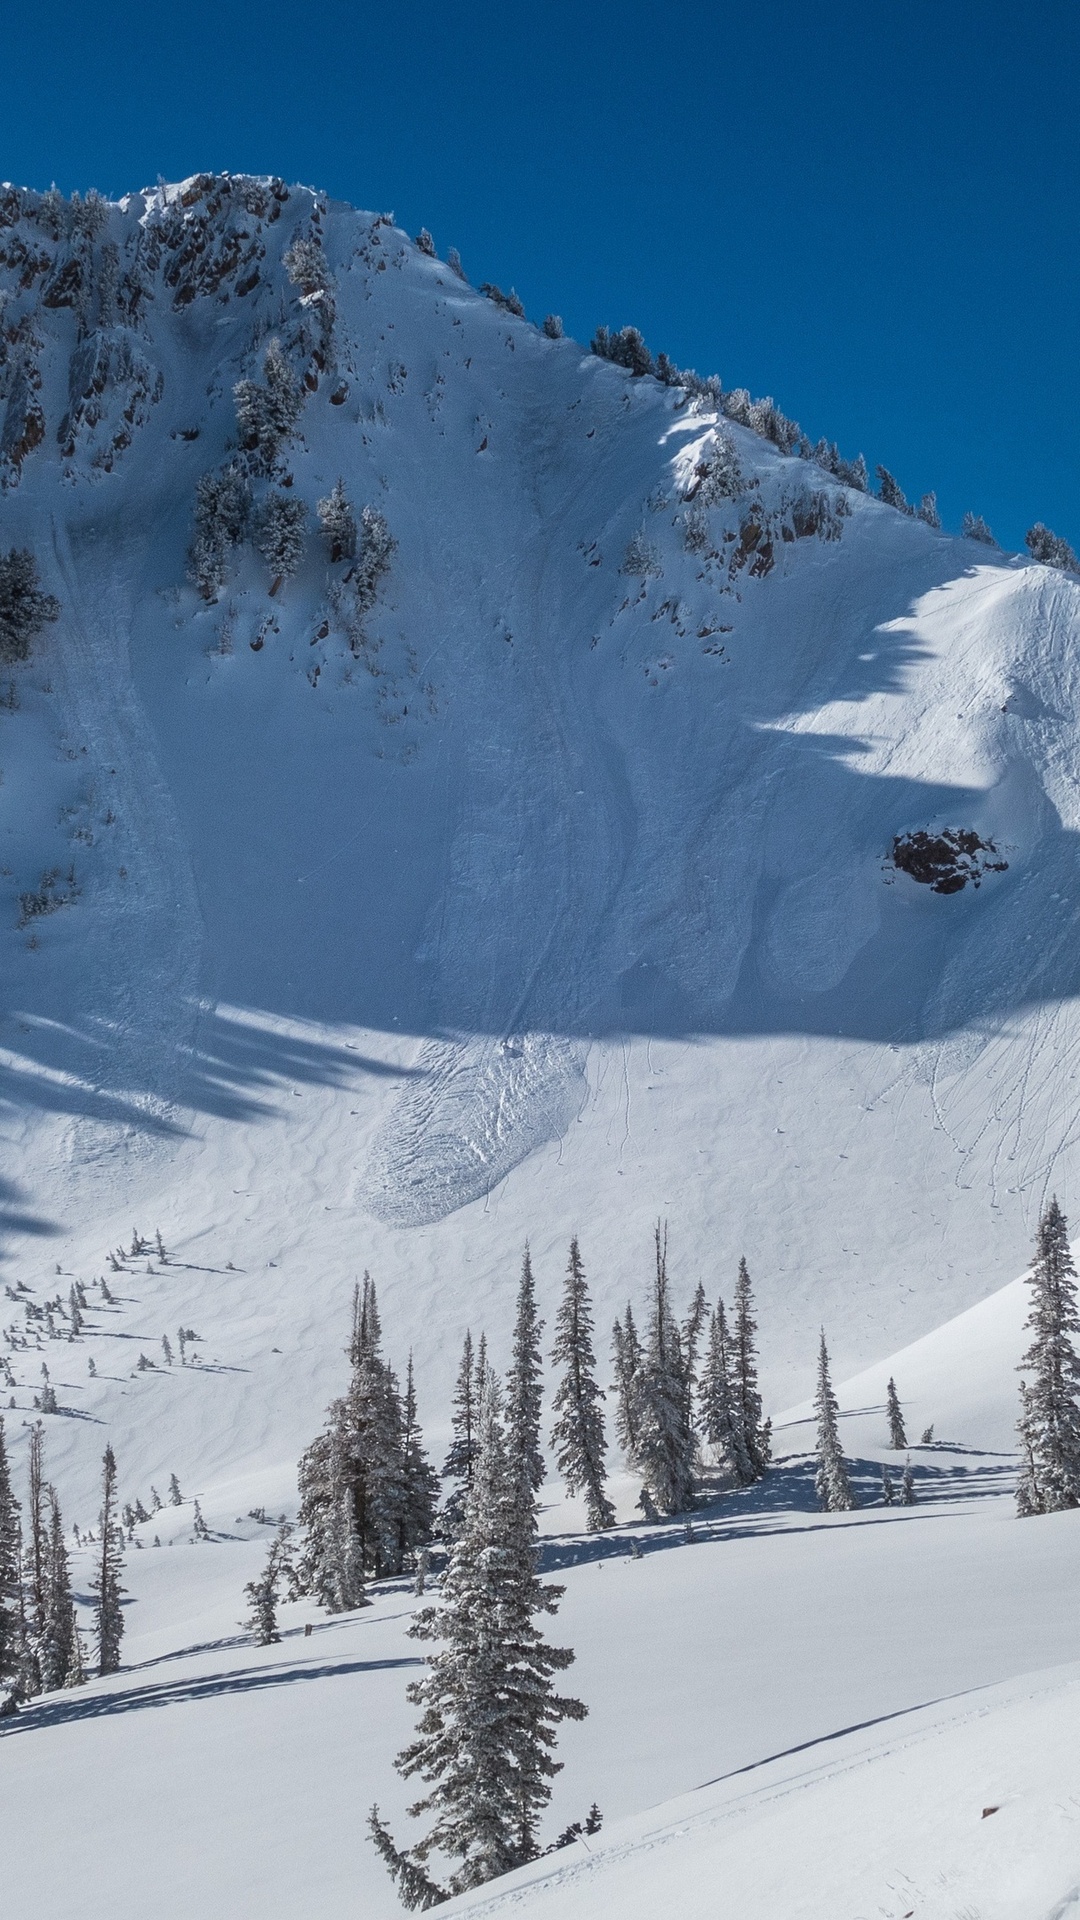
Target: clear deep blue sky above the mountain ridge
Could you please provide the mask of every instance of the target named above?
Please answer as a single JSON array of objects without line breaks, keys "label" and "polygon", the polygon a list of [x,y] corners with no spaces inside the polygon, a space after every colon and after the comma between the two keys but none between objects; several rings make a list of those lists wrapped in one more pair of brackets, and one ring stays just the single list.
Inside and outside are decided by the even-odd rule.
[{"label": "clear deep blue sky above the mountain ridge", "polygon": [[[282,173],[1080,547],[1080,8],[8,0],[0,177]],[[17,19],[17,29],[15,29]]]}]

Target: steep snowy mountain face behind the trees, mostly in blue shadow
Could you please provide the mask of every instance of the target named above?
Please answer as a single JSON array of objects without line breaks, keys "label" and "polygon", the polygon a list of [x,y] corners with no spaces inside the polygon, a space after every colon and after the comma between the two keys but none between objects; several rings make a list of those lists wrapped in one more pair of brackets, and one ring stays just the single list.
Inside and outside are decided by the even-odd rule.
[{"label": "steep snowy mountain face behind the trees, mostly in blue shadow", "polygon": [[[438,1402],[527,1233],[548,1296],[582,1233],[605,1315],[661,1212],[686,1290],[748,1252],[790,1396],[822,1315],[851,1371],[1011,1279],[1076,1152],[1072,580],[279,180],[4,190],[0,286],[0,547],[61,603],[2,674],[10,1271],[161,1221],[254,1369],[213,1415],[81,1405],[152,1463],[286,1459],[357,1267]],[[271,340],[302,409],[208,601],[196,486]],[[338,478],[394,540],[363,605]],[[284,580],[271,492],[306,511]],[[200,1294],[200,1236],[258,1286]],[[319,1356],[275,1440],[286,1323]]]}]

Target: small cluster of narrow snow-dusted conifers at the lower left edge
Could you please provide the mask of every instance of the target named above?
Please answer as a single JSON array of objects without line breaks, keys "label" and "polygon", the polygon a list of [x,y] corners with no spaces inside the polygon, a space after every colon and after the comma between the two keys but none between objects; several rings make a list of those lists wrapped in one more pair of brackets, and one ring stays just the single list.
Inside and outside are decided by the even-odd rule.
[{"label": "small cluster of narrow snow-dusted conifers at the lower left edge", "polygon": [[[100,1534],[94,1546],[94,1670],[119,1667],[123,1638],[123,1526],[117,1521],[115,1457],[102,1463]],[[56,1688],[81,1686],[86,1649],[71,1594],[67,1542],[56,1486],[46,1478],[44,1427],[31,1428],[25,1524],[15,1500],[0,1419],[0,1713]]]}]

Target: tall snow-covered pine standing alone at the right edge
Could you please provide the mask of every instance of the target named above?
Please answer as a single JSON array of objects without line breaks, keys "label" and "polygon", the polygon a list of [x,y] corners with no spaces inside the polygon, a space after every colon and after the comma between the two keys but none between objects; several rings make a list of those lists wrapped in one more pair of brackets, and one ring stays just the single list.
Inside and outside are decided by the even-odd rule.
[{"label": "tall snow-covered pine standing alone at the right edge", "polygon": [[1038,1225],[1028,1286],[1024,1331],[1032,1344],[1017,1369],[1026,1375],[1017,1427],[1024,1455],[1017,1511],[1059,1513],[1080,1505],[1080,1357],[1074,1346],[1080,1313],[1068,1223],[1057,1198]]}]

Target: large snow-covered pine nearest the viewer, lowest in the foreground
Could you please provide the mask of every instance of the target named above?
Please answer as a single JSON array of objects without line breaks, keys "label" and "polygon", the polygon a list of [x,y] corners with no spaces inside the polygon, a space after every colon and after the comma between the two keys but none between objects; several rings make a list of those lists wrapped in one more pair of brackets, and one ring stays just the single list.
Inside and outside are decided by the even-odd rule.
[{"label": "large snow-covered pine nearest the viewer, lowest in the foreground", "polygon": [[[429,1657],[425,1678],[409,1686],[421,1720],[396,1764],[404,1778],[419,1776],[429,1788],[409,1812],[434,1820],[415,1847],[400,1853],[384,1828],[379,1837],[373,1814],[373,1836],[405,1903],[434,1905],[442,1897],[425,1874],[432,1853],[457,1862],[448,1893],[536,1859],[538,1818],[559,1772],[552,1757],[555,1728],[586,1713],[552,1688],[552,1674],[571,1665],[573,1651],[548,1645],[536,1626],[536,1615],[555,1613],[561,1592],[536,1576],[536,1503],[525,1473],[515,1478],[511,1471],[498,1382],[490,1379],[440,1605],[421,1609],[409,1630],[415,1640],[440,1642],[440,1651]],[[415,1884],[417,1874],[430,1891]]]}]

